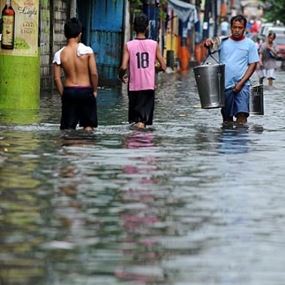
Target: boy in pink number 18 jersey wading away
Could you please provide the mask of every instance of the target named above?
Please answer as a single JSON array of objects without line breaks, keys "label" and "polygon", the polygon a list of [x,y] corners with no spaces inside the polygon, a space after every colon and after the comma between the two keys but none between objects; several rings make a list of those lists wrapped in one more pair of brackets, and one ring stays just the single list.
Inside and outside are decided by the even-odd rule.
[{"label": "boy in pink number 18 jersey wading away", "polygon": [[[166,64],[158,43],[147,39],[148,18],[139,14],[134,19],[136,38],[126,43],[119,78],[128,83],[129,123],[144,128],[152,125],[155,95],[156,61],[165,71]],[[128,71],[128,75],[127,75]]]}]

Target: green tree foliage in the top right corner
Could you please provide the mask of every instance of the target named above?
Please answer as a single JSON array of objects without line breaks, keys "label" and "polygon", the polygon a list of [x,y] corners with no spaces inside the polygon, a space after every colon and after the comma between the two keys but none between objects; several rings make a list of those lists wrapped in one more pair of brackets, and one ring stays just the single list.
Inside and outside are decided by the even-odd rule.
[{"label": "green tree foliage in the top right corner", "polygon": [[268,21],[279,20],[285,24],[285,1],[284,0],[262,0],[265,3],[265,18]]}]

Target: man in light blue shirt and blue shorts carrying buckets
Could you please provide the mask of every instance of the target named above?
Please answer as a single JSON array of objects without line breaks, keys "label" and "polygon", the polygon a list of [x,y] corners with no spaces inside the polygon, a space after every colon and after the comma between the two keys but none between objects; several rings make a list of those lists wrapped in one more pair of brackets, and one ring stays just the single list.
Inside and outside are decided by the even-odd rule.
[{"label": "man in light blue shirt and blue shorts carrying buckets", "polygon": [[[219,46],[220,62],[225,64],[225,107],[222,108],[223,122],[247,123],[249,116],[249,78],[259,62],[255,43],[246,38],[247,20],[242,15],[231,19],[231,35],[223,39]],[[206,47],[212,47],[219,41],[217,38],[207,39]]]}]

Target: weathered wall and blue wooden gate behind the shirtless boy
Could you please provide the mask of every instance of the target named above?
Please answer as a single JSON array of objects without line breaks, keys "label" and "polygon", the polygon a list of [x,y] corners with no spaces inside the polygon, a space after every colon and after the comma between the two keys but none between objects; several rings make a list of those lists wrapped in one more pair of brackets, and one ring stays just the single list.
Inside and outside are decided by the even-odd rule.
[{"label": "weathered wall and blue wooden gate behind the shirtless boy", "polygon": [[125,0],[41,0],[40,52],[41,89],[53,89],[52,59],[65,45],[64,23],[77,16],[83,23],[84,44],[93,48],[101,85],[117,83],[121,51],[127,37],[128,1]]}]

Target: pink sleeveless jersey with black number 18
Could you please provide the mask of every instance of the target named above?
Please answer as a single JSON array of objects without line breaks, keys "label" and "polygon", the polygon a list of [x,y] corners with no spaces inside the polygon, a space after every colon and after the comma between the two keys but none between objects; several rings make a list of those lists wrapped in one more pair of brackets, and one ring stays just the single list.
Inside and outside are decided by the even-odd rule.
[{"label": "pink sleeveless jersey with black number 18", "polygon": [[155,61],[157,42],[134,39],[127,43],[129,60],[129,90],[155,89]]}]

